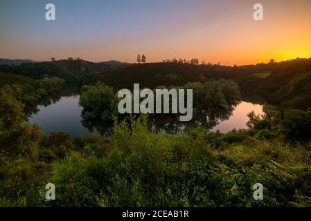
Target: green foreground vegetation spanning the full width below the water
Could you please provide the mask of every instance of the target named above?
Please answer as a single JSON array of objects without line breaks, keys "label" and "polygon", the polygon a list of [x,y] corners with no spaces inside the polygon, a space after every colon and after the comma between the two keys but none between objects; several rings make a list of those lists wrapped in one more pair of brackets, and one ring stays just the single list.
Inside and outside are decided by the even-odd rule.
[{"label": "green foreground vegetation spanning the full width below the water", "polygon": [[[142,115],[115,120],[109,137],[72,142],[25,124],[23,106],[0,96],[1,206],[311,205],[310,143],[299,138],[311,137],[311,110],[283,118],[268,106],[262,117],[249,115],[249,130],[226,134],[156,133]],[[57,186],[53,202],[44,200],[46,182]],[[256,182],[264,200],[253,199]]]}]

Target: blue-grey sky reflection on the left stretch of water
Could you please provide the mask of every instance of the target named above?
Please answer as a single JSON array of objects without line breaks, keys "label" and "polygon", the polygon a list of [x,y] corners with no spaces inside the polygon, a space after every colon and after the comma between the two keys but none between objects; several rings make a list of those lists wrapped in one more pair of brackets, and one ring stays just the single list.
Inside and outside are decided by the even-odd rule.
[{"label": "blue-grey sky reflection on the left stretch of water", "polygon": [[31,124],[39,124],[46,135],[52,131],[66,131],[73,137],[87,133],[87,128],[82,126],[81,111],[79,106],[79,96],[73,95],[62,97],[55,104],[49,106],[38,106],[39,112],[31,115]]}]

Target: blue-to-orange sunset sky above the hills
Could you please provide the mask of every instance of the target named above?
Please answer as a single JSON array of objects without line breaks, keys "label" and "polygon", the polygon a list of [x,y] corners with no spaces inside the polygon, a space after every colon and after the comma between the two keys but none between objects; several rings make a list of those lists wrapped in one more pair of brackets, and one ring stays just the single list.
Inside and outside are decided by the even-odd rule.
[{"label": "blue-to-orange sunset sky above the hills", "polygon": [[0,57],[257,64],[311,57],[310,27],[310,0],[0,0]]}]

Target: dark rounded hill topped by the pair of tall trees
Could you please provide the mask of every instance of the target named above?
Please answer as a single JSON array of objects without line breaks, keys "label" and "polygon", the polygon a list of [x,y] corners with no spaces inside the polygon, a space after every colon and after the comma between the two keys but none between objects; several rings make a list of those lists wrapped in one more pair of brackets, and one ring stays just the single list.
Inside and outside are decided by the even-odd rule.
[{"label": "dark rounded hill topped by the pair of tall trees", "polygon": [[132,88],[134,83],[141,87],[155,88],[159,85],[182,85],[190,81],[204,81],[202,72],[192,65],[181,64],[131,64],[108,72],[87,75],[84,84],[103,81],[114,88]]}]

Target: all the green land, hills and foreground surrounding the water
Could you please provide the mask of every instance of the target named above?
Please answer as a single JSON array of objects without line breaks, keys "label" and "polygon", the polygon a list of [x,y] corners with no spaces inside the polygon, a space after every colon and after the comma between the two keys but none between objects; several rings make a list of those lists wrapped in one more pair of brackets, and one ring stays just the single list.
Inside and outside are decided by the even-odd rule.
[{"label": "all the green land, hills and foreground surrounding the water", "polygon": [[[0,206],[311,206],[311,59],[251,66],[60,60],[0,66]],[[121,115],[117,90],[192,88],[194,112],[263,104],[247,129],[189,124],[161,133],[154,115]],[[85,121],[44,135],[28,116],[69,86]],[[173,116],[176,117],[176,116]],[[56,200],[44,188],[56,186]],[[264,186],[254,200],[255,183]]]}]

